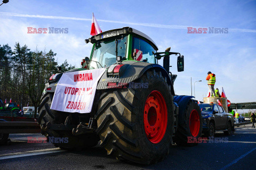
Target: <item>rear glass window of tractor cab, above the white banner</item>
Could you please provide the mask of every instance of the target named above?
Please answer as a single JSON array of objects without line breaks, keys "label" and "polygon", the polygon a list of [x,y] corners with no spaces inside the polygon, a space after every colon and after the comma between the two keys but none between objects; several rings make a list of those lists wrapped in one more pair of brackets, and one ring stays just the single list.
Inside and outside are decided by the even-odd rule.
[{"label": "rear glass window of tractor cab, above the white banner", "polygon": [[[127,38],[119,37],[114,39],[107,39],[105,41],[98,41],[95,43],[92,55],[91,66],[94,68],[99,68],[99,62],[103,67],[110,66],[116,63],[116,47],[117,47],[117,56],[121,56],[122,60],[125,60],[125,52],[126,52],[126,41]],[[117,44],[117,46],[116,46]]]}]

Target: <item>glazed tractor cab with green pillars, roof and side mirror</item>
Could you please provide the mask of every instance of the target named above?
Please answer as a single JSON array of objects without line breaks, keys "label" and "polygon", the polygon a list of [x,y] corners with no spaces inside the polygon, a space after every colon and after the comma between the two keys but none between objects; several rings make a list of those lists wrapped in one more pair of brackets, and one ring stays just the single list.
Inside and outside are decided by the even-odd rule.
[{"label": "glazed tractor cab with green pillars, roof and side mirror", "polygon": [[124,64],[125,61],[145,62],[157,64],[157,60],[164,57],[164,69],[169,72],[170,55],[178,56],[178,71],[184,70],[184,60],[180,53],[169,52],[167,48],[163,53],[157,53],[154,41],[144,33],[130,27],[114,29],[99,33],[85,40],[92,43],[91,56],[85,57],[82,67],[99,69],[109,67],[115,63]]}]

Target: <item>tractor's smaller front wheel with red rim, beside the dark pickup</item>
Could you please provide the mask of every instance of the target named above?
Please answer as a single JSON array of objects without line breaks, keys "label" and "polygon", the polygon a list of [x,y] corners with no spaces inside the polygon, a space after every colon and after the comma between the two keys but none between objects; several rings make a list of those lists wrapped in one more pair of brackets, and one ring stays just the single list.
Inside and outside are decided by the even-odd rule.
[{"label": "tractor's smaller front wheel with red rim, beside the dark pickup", "polygon": [[190,99],[184,114],[179,114],[175,143],[181,146],[195,146],[202,135],[202,114],[200,107]]}]

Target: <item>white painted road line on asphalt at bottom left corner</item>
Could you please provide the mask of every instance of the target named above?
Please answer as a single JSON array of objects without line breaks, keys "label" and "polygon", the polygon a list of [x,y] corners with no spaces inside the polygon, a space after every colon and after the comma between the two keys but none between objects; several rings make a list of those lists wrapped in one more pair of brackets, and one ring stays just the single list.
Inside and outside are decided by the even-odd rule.
[{"label": "white painted road line on asphalt at bottom left corner", "polygon": [[19,157],[25,157],[25,156],[51,154],[51,153],[63,152],[63,151],[66,151],[66,150],[60,150],[59,148],[56,148],[56,149],[42,149],[42,150],[33,150],[33,151],[26,151],[26,152],[17,152],[13,154],[0,155],[0,160],[19,158]]}]

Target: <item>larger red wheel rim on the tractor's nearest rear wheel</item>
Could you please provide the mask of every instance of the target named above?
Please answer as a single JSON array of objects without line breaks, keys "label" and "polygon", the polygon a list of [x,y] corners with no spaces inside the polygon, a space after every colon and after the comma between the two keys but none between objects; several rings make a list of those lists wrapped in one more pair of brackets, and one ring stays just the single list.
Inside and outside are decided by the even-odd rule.
[{"label": "larger red wheel rim on the tractor's nearest rear wheel", "polygon": [[145,103],[143,122],[147,138],[152,143],[159,143],[167,127],[167,107],[161,92],[152,91]]}]

